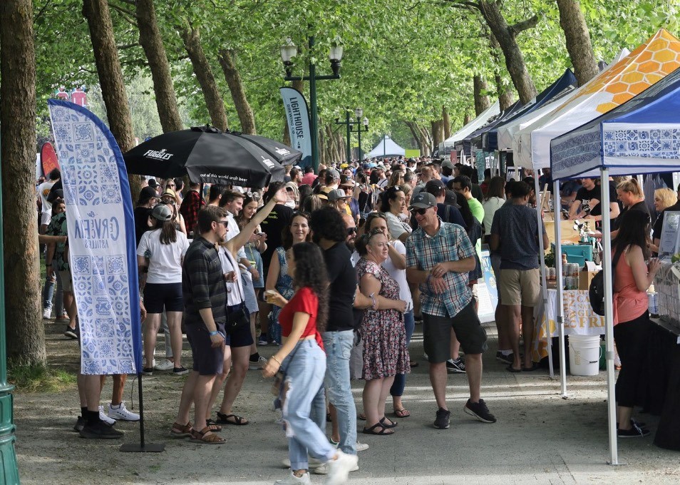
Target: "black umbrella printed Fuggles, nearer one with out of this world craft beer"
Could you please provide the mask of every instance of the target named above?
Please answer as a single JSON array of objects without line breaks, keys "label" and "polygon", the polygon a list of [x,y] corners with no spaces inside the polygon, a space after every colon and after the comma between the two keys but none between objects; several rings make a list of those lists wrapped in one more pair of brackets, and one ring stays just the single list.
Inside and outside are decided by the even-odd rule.
[{"label": "black umbrella printed Fuggles, nearer one with out of this world craft beer", "polygon": [[260,188],[284,179],[272,155],[242,136],[210,126],[151,138],[123,155],[128,173],[159,178],[189,175],[195,183]]}]

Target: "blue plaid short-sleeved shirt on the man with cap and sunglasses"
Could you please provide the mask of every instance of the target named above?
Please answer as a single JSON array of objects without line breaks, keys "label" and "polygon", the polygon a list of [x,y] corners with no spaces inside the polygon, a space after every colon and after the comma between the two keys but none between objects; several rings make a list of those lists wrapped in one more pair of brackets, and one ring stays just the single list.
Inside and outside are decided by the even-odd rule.
[{"label": "blue plaid short-sleeved shirt on the man with cap and sunglasses", "polygon": [[[433,236],[418,228],[406,240],[406,267],[429,271],[440,262],[459,261],[474,257],[475,248],[458,224],[439,220],[439,230]],[[428,282],[421,283],[421,312],[437,317],[455,317],[473,298],[468,287],[468,272],[448,271],[444,274],[446,290],[435,293]]]}]

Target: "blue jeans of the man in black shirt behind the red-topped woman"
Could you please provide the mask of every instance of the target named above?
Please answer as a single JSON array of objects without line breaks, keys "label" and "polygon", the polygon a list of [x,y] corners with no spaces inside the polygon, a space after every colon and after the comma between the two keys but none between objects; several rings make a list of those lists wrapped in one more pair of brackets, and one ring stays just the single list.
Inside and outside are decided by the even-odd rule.
[{"label": "blue jeans of the man in black shirt behind the red-topped woman", "polygon": [[349,382],[349,354],[354,345],[354,332],[324,332],[326,349],[326,389],[337,411],[340,444],[338,448],[356,454],[356,406]]}]

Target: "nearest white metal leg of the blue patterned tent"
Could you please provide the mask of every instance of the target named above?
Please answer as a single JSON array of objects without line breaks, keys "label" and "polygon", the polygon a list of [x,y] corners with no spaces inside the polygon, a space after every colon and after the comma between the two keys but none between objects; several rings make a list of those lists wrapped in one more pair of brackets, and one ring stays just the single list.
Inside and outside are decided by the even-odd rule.
[{"label": "nearest white metal leg of the blue patterned tent", "polygon": [[[614,305],[612,301],[612,227],[609,220],[609,169],[600,168],[602,187],[602,269],[604,269],[604,330],[607,341],[607,417],[609,418],[609,463],[619,464],[617,443],[617,405],[614,389]],[[606,206],[604,204],[607,204]]]}]

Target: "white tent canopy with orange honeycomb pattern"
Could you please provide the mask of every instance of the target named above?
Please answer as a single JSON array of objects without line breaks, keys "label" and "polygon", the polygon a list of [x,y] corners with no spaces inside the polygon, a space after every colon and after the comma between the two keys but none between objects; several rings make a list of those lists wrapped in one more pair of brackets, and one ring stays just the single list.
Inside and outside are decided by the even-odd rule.
[{"label": "white tent canopy with orange honeycomb pattern", "polygon": [[550,140],[625,103],[680,66],[680,41],[660,29],[611,68],[578,88],[555,111],[532,123],[519,136],[515,165],[550,167]]}]

